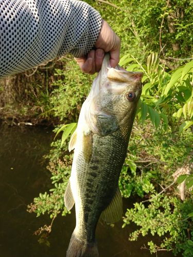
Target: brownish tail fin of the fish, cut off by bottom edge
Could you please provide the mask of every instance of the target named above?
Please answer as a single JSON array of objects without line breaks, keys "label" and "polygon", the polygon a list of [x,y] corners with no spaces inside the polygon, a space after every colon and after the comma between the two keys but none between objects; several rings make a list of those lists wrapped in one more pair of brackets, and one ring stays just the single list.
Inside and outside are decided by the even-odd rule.
[{"label": "brownish tail fin of the fish, cut off by bottom edge", "polygon": [[80,241],[73,233],[66,257],[99,257],[97,244]]}]

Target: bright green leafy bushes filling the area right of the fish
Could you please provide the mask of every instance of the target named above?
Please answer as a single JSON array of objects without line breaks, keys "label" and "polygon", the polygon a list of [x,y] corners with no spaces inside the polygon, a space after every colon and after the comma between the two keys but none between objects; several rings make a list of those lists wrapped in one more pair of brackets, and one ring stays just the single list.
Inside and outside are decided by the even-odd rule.
[{"label": "bright green leafy bushes filling the area right of the fish", "polygon": [[[168,182],[171,183],[168,186],[170,188],[174,183],[171,182],[174,172],[187,161],[190,163],[192,161],[189,159],[191,132],[182,135],[176,132],[181,134],[193,124],[193,62],[172,72],[164,69],[157,54],[154,53],[148,57],[146,65],[140,64],[129,55],[122,58],[120,63],[129,71],[140,70],[145,73],[137,118],[144,123],[145,127],[150,120],[156,129],[155,134],[151,131],[151,135],[150,132],[147,135],[147,131],[145,130],[144,134],[138,124],[138,131],[135,131],[135,137],[131,137],[130,140],[129,163],[126,159],[119,179],[119,187],[125,197],[134,193],[152,200],[147,207],[141,202],[135,203],[134,208],[128,209],[124,226],[130,221],[141,226],[130,235],[130,240],[137,240],[139,234],[146,235],[148,232],[162,236],[163,240],[159,246],[153,241],[148,243],[151,253],[172,250],[174,254],[181,252],[183,256],[192,256],[193,228],[190,215],[193,211],[193,203],[192,192],[188,191],[193,184],[192,174],[181,175],[177,179],[179,183],[183,180],[186,183],[187,200],[184,203],[174,196],[177,190],[173,189],[165,196],[159,195],[157,191],[159,192],[160,188],[158,185],[162,185],[163,188],[163,185],[167,185]],[[128,67],[127,64],[129,64]],[[130,165],[131,161],[140,163],[141,166]],[[131,173],[128,170],[131,170]],[[136,174],[137,170],[138,174]],[[165,188],[168,187],[165,186]],[[161,192],[165,192],[165,189]],[[178,215],[180,215],[179,218]]]}]

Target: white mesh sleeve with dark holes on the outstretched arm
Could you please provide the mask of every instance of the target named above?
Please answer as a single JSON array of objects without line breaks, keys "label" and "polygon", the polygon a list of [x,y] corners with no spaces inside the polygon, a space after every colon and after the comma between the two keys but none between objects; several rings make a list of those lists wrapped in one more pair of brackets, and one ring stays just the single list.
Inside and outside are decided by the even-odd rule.
[{"label": "white mesh sleeve with dark holes on the outstretched arm", "polygon": [[81,1],[1,0],[0,78],[66,53],[84,56],[100,27],[100,14]]}]

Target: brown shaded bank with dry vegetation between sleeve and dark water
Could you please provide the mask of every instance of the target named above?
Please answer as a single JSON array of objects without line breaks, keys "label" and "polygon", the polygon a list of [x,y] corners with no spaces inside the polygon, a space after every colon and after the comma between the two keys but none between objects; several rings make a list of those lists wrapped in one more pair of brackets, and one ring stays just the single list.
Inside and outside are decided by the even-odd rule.
[{"label": "brown shaded bank with dry vegetation between sleeve and dark water", "polygon": [[[0,122],[8,125],[55,126],[50,102],[56,69],[65,69],[66,58],[0,80]],[[62,79],[63,76],[57,76]]]}]

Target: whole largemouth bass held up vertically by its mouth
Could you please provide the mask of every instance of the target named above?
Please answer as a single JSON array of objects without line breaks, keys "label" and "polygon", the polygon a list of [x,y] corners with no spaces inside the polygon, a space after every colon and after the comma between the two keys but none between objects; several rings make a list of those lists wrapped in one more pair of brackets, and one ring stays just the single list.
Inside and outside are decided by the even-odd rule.
[{"label": "whole largemouth bass held up vertically by its mouth", "polygon": [[64,204],[75,204],[76,227],[67,257],[98,257],[95,230],[99,218],[112,224],[122,217],[118,180],[142,92],[142,72],[110,67],[105,55],[101,70],[84,101],[76,131],[69,141],[74,149],[71,177]]}]

